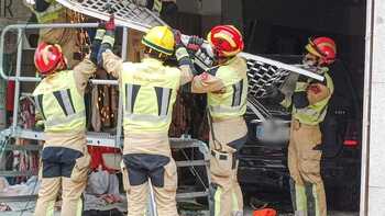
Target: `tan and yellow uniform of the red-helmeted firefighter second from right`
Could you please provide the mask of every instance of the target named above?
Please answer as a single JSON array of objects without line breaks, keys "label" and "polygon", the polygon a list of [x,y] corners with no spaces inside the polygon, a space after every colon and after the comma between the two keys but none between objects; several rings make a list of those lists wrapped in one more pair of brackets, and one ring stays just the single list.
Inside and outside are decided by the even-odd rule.
[{"label": "tan and yellow uniform of the red-helmeted firefighter second from right", "polygon": [[[193,92],[207,92],[210,113],[210,174],[213,216],[243,215],[242,191],[238,183],[237,151],[246,140],[246,61],[233,57],[224,65],[195,77]],[[231,125],[231,126],[229,126]]]}]

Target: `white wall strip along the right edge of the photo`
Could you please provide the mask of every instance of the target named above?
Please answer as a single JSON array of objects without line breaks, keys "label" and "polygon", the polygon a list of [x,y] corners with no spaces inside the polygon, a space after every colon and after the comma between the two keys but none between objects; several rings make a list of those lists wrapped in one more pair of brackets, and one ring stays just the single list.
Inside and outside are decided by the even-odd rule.
[{"label": "white wall strip along the right edge of the photo", "polygon": [[[372,20],[373,37],[370,37],[370,31],[367,35],[367,39],[372,38],[373,44],[369,43],[366,47],[372,48],[372,52],[367,49],[366,55],[369,57],[366,64],[372,64],[372,68],[367,68],[367,71],[371,70],[372,77],[366,76],[369,78],[366,87],[371,87],[369,89],[371,100],[366,100],[369,103],[369,120],[364,121],[364,128],[369,128],[370,140],[369,148],[364,148],[364,154],[367,150],[369,156],[366,167],[369,181],[363,187],[363,192],[367,192],[367,215],[383,216],[385,215],[385,1],[373,0],[374,4],[371,4],[371,0],[367,1],[370,2],[369,5],[375,8]],[[365,168],[363,170],[365,171]],[[361,215],[364,215],[364,209],[361,211]]]}]

